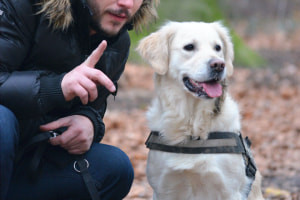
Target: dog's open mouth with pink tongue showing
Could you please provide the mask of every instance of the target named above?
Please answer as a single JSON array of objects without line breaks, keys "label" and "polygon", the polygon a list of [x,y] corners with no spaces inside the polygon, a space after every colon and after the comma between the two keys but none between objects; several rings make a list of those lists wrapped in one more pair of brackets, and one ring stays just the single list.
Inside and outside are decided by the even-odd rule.
[{"label": "dog's open mouth with pink tongue showing", "polygon": [[183,83],[190,92],[195,93],[199,97],[216,98],[222,95],[222,85],[215,80],[198,82],[189,77],[184,77]]}]

